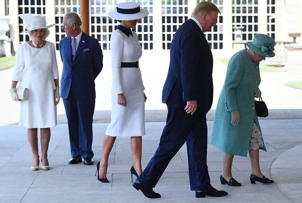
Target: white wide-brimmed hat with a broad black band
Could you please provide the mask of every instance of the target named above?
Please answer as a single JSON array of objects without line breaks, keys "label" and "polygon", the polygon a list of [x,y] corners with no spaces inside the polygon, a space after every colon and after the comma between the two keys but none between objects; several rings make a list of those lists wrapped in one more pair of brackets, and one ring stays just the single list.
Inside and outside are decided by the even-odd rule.
[{"label": "white wide-brimmed hat with a broad black band", "polygon": [[138,3],[123,2],[117,4],[114,11],[109,12],[109,17],[116,20],[138,20],[148,14],[149,11],[142,9]]}]

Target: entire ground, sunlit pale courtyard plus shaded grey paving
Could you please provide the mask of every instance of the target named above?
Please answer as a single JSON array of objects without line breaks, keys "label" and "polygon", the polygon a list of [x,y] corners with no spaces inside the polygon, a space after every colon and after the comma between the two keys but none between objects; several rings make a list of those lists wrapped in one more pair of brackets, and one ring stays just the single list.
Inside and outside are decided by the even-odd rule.
[{"label": "entire ground, sunlit pale courtyard plus shaded grey paving", "polygon": [[[140,61],[146,87],[146,133],[143,138],[143,168],[153,156],[164,126],[166,107],[161,103],[161,90],[169,66],[169,55],[153,58],[144,51]],[[94,161],[102,156],[102,142],[110,121],[111,68],[110,54],[104,53],[104,70],[96,79],[96,105],[93,124]],[[59,59],[59,56],[57,57]],[[59,73],[62,70],[58,60]],[[220,94],[226,65],[214,61],[214,101],[208,118],[209,136]],[[190,191],[187,153],[185,146],[173,158],[154,189],[162,197],[148,199],[130,184],[132,165],[129,138],[118,138],[109,159],[109,184],[96,180],[96,167],[83,164],[70,165],[69,135],[62,101],[57,106],[58,126],[51,130],[49,148],[50,171],[30,170],[32,155],[26,129],[17,125],[19,103],[9,93],[13,69],[0,72],[0,202],[234,202],[234,203],[289,203],[302,202],[302,90],[288,87],[286,81],[301,79],[302,73],[261,73],[260,89],[270,116],[261,119],[260,125],[268,152],[261,152],[263,173],[275,184],[250,184],[248,157],[235,157],[233,176],[242,187],[221,185],[219,176],[222,155],[208,145],[208,166],[211,183],[229,192],[220,198],[197,199]],[[209,138],[210,139],[210,138]],[[41,164],[40,164],[41,167]]]}]

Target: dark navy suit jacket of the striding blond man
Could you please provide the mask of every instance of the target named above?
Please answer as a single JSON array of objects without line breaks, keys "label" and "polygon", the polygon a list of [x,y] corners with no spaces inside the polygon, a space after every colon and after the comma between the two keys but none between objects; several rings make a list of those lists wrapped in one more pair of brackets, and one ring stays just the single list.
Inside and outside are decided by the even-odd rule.
[{"label": "dark navy suit jacket of the striding blond man", "polygon": [[213,56],[204,32],[192,20],[183,23],[173,37],[170,66],[162,91],[162,102],[185,108],[197,100],[195,114],[206,114],[213,102]]}]

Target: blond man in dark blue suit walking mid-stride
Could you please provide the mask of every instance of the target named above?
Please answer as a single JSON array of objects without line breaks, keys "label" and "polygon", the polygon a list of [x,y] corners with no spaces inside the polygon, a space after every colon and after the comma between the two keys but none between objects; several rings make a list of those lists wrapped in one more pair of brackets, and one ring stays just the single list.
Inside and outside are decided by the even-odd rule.
[{"label": "blond man in dark blue suit walking mid-stride", "polygon": [[152,188],[185,142],[195,196],[227,194],[211,186],[207,166],[206,114],[213,101],[213,56],[204,32],[217,23],[218,13],[214,4],[199,3],[192,18],[179,27],[172,40],[169,72],[162,91],[162,102],[168,108],[166,125],[157,151],[132,183],[146,197],[160,197]]}]

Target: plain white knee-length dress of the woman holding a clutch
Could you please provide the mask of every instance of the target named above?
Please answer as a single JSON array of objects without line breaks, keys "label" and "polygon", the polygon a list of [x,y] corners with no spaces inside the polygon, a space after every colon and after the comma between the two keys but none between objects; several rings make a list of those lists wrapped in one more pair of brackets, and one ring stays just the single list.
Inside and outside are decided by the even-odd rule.
[{"label": "plain white knee-length dress of the woman holding a clutch", "polygon": [[57,124],[54,105],[54,79],[58,79],[54,44],[46,42],[42,48],[33,48],[27,42],[19,45],[13,81],[28,88],[28,99],[20,101],[19,126],[47,128]]}]

